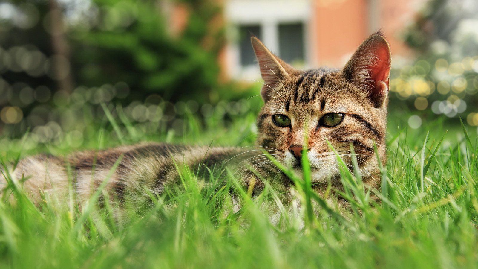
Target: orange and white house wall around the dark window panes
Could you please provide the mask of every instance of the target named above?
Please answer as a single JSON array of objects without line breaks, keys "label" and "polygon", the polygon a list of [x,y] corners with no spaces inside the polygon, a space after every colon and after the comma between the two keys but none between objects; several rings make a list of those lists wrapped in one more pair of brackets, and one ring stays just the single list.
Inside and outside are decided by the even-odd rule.
[{"label": "orange and white house wall around the dark window panes", "polygon": [[[305,68],[343,67],[367,36],[381,29],[392,56],[413,56],[401,35],[427,0],[225,0],[230,29],[229,45],[221,55],[231,78],[257,78],[257,67],[241,67],[234,43],[234,25],[260,22],[265,30],[278,20],[302,21],[305,25]],[[262,41],[277,51],[276,32]]]}]

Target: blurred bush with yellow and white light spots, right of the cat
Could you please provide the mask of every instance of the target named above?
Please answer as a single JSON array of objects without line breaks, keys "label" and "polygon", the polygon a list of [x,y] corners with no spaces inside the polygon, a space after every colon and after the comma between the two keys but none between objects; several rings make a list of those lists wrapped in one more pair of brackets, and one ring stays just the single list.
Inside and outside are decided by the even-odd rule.
[{"label": "blurred bush with yellow and white light spots, right of the cat", "polygon": [[403,34],[417,57],[393,65],[390,90],[404,101],[400,106],[408,104],[425,117],[434,112],[478,125],[477,12],[476,1],[426,3]]}]

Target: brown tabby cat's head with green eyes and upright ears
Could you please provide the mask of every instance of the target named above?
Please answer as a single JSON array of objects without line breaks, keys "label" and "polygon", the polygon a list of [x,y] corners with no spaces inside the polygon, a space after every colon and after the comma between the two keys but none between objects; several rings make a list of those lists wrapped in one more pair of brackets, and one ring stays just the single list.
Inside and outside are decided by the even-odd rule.
[{"label": "brown tabby cat's head with green eyes and upright ears", "polygon": [[337,150],[352,167],[353,145],[364,178],[377,178],[377,158],[385,161],[385,128],[391,54],[387,41],[373,34],[343,69],[298,70],[251,38],[264,85],[257,119],[257,144],[302,175],[305,152],[312,181],[339,176]]}]

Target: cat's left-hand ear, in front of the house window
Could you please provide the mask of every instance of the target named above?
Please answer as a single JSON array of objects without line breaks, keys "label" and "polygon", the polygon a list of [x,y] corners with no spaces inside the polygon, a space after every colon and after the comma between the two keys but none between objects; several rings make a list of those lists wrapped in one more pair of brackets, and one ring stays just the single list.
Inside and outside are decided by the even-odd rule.
[{"label": "cat's left-hand ear, in front of the house window", "polygon": [[252,36],[250,42],[252,48],[254,48],[261,69],[261,76],[265,83],[261,89],[261,96],[264,102],[267,102],[272,98],[273,91],[281,85],[282,81],[290,77],[286,69],[293,69],[293,67],[273,55],[257,37]]}]

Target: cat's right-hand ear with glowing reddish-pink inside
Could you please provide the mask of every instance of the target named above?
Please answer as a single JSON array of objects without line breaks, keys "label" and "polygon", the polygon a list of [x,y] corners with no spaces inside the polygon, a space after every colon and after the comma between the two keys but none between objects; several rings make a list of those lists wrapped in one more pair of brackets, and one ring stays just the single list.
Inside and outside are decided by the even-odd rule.
[{"label": "cat's right-hand ear with glowing reddish-pink inside", "polygon": [[376,107],[382,107],[389,91],[390,47],[380,32],[372,34],[359,46],[342,70],[346,79],[369,92]]}]

